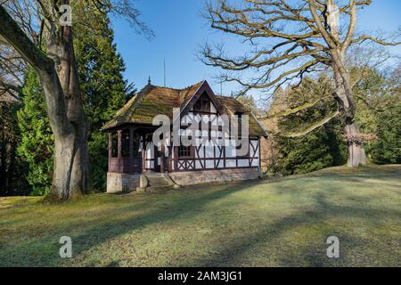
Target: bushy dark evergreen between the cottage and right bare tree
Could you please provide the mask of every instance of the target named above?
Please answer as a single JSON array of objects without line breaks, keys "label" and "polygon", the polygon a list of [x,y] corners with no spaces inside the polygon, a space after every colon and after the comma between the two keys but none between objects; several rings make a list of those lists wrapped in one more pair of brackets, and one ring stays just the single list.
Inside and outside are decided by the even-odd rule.
[{"label": "bushy dark evergreen between the cottage and right bare tree", "polygon": [[338,119],[333,119],[313,132],[297,138],[282,135],[286,131],[311,125],[335,108],[333,103],[325,101],[331,92],[327,87],[327,80],[324,76],[318,80],[306,78],[297,88],[289,87],[275,94],[270,110],[273,113],[296,110],[307,99],[315,103],[306,110],[279,117],[275,123],[277,126],[270,126],[275,133],[274,147],[280,158],[272,166],[272,172],[282,175],[304,174],[346,163],[347,145],[342,138],[342,128]]}]

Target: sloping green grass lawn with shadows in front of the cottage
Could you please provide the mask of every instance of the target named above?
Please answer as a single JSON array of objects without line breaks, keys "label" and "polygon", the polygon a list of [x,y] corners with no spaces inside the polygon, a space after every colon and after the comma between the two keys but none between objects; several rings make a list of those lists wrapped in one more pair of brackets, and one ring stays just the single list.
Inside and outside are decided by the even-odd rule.
[{"label": "sloping green grass lawn with shadows in front of the cottage", "polygon": [[[0,198],[1,266],[401,266],[401,167],[59,205]],[[73,257],[61,259],[70,236]],[[340,258],[325,241],[340,238]]]}]

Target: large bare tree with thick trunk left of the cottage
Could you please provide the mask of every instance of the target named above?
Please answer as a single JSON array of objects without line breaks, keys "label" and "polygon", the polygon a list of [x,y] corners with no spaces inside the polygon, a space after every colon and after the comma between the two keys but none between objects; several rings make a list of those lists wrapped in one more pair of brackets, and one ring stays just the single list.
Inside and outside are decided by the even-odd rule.
[{"label": "large bare tree with thick trunk left of the cottage", "polygon": [[[88,13],[114,12],[125,16],[138,31],[149,34],[150,30],[137,19],[139,12],[131,0],[0,0],[0,4],[0,43],[37,71],[45,94],[54,134],[50,197],[78,196],[88,187],[88,123],[78,81],[73,28],[61,21],[69,16],[64,5],[74,8],[86,4]],[[7,60],[11,62],[10,57]]]}]

